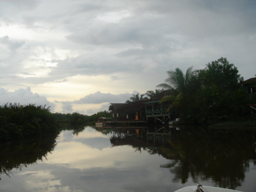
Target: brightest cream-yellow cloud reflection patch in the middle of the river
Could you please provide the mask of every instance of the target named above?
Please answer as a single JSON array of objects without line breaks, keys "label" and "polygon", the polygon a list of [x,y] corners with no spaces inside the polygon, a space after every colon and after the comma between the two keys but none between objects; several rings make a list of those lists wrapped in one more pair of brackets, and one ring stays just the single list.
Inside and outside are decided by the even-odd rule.
[{"label": "brightest cream-yellow cloud reflection patch in the middle of the river", "polygon": [[[105,140],[104,138],[102,138]],[[108,140],[109,145],[110,141]],[[129,155],[128,155],[129,154]],[[129,166],[143,165],[141,160],[147,160],[144,155],[134,153],[130,146],[120,146],[115,148],[91,148],[78,142],[58,143],[55,151],[47,156],[47,164],[62,164],[70,168],[89,169],[91,167],[116,167],[125,169]],[[145,151],[145,154],[147,152]],[[140,158],[137,162],[135,159]],[[116,165],[116,162],[123,162]],[[65,164],[65,165],[64,165]]]}]

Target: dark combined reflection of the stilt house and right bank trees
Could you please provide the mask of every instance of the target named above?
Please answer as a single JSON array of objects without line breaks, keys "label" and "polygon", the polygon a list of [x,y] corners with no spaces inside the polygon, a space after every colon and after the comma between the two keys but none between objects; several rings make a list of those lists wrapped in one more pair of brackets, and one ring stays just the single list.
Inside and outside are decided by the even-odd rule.
[{"label": "dark combined reflection of the stilt house and right bank trees", "polygon": [[160,167],[175,175],[175,183],[192,178],[194,183],[212,180],[214,186],[236,189],[244,182],[249,160],[256,158],[252,129],[173,128],[171,134],[146,133],[143,128],[111,130],[113,146],[131,145],[169,159]]}]

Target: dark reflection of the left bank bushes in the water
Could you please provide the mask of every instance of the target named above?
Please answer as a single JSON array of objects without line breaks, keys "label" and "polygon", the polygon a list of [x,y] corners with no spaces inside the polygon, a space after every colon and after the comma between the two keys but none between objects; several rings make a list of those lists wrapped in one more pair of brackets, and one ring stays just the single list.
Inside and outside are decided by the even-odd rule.
[{"label": "dark reflection of the left bank bushes in the water", "polygon": [[47,154],[55,148],[57,136],[1,144],[0,175],[5,174],[10,177],[12,169],[21,171],[23,167],[46,158]]}]

